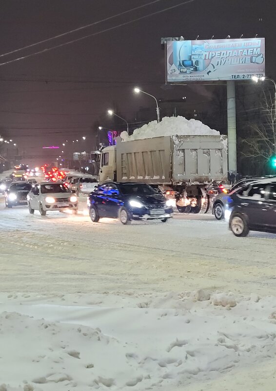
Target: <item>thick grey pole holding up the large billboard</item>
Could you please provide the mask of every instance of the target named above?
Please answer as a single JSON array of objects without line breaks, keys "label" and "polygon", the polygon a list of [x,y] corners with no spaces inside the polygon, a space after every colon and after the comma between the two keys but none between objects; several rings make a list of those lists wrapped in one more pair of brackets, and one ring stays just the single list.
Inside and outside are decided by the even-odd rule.
[{"label": "thick grey pole holding up the large billboard", "polygon": [[236,88],[234,80],[227,80],[228,169],[237,173]]}]

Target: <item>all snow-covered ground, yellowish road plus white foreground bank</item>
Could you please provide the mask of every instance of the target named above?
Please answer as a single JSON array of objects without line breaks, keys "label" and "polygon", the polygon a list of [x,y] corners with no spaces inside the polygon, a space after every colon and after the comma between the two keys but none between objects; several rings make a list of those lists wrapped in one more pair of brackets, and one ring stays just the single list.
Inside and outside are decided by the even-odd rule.
[{"label": "all snow-covered ground, yellowish road plus white foreground bank", "polygon": [[211,215],[92,224],[0,197],[0,391],[274,391],[275,246]]}]

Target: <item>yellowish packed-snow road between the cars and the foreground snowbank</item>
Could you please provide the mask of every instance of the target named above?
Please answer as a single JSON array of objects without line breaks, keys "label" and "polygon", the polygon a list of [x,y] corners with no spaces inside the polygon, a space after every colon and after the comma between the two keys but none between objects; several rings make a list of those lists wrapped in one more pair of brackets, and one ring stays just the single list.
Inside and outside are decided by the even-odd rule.
[{"label": "yellowish packed-snow road between the cars and the foreground snowbank", "polygon": [[213,216],[123,226],[58,212],[41,217],[0,204],[1,290],[183,291],[273,294],[272,234],[236,238]]}]

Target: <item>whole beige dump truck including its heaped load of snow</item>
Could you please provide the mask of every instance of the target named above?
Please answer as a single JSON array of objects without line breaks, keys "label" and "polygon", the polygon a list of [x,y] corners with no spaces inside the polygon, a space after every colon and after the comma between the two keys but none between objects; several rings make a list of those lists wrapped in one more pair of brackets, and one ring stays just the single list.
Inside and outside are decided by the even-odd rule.
[{"label": "whole beige dump truck including its heaped load of snow", "polygon": [[101,151],[99,183],[157,187],[179,212],[208,210],[208,187],[227,180],[227,137],[197,120],[165,117],[122,132]]}]

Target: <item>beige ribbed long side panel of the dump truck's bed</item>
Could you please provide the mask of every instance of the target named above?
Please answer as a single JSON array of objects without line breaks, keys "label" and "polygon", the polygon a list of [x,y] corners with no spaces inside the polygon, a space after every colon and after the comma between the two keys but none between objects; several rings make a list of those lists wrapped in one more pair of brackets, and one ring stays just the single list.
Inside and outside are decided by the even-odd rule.
[{"label": "beige ribbed long side panel of the dump truck's bed", "polygon": [[117,180],[171,184],[170,137],[121,142],[117,139]]}]

